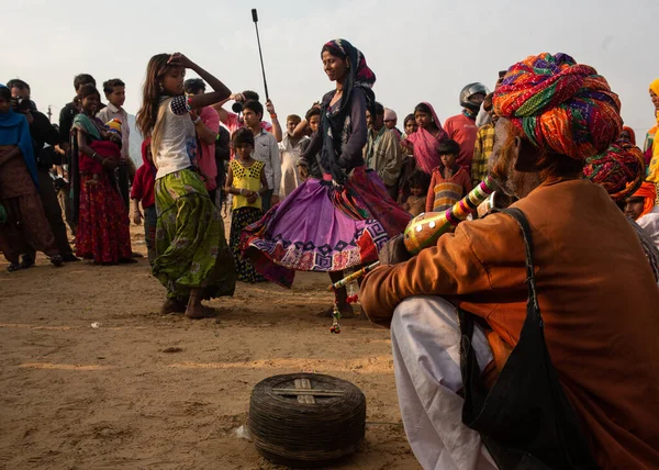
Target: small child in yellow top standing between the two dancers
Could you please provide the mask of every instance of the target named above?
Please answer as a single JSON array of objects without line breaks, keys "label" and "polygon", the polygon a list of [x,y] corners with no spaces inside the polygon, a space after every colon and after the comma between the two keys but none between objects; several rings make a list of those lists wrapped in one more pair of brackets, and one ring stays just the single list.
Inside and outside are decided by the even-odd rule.
[{"label": "small child in yellow top standing between the two dancers", "polygon": [[263,214],[261,197],[268,191],[265,164],[256,160],[254,153],[254,133],[243,127],[233,135],[236,158],[228,164],[226,192],[233,197],[230,247],[236,259],[237,279],[245,282],[264,282],[248,259],[241,256],[241,234],[243,228],[258,222]]}]

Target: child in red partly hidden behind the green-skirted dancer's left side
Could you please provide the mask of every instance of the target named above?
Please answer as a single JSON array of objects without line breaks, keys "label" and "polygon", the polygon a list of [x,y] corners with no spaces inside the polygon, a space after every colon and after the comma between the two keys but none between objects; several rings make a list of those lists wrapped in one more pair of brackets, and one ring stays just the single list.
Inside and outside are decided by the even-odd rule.
[{"label": "child in red partly hidden behind the green-skirted dancer's left side", "polygon": [[[156,222],[158,215],[156,213],[154,187],[157,171],[150,150],[150,137],[147,137],[142,143],[142,166],[135,172],[131,200],[133,201],[133,222],[135,225],[142,224],[144,219],[144,238],[150,265],[156,259]],[[139,203],[142,203],[144,215],[139,211]]]}]

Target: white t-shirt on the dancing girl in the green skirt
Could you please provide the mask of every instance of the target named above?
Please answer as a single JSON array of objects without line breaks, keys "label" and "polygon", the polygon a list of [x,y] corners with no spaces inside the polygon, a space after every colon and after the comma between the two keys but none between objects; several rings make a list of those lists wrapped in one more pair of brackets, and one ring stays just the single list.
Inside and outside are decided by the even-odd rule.
[{"label": "white t-shirt on the dancing girl in the green skirt", "polygon": [[[167,98],[160,105],[167,105],[166,101]],[[154,158],[158,169],[156,179],[196,165],[197,138],[189,111],[187,98],[179,96],[171,99],[163,114],[165,122],[160,131],[160,145]]]}]

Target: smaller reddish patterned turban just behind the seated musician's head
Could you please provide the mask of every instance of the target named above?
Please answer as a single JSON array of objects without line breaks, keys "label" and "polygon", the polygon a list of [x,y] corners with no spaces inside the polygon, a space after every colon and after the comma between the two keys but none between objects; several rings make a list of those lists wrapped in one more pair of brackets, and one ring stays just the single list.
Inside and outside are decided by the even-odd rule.
[{"label": "smaller reddish patterned turban just behind the seated musician's head", "polygon": [[614,201],[624,201],[643,183],[645,157],[637,146],[617,141],[606,152],[588,158],[583,175],[602,184]]}]

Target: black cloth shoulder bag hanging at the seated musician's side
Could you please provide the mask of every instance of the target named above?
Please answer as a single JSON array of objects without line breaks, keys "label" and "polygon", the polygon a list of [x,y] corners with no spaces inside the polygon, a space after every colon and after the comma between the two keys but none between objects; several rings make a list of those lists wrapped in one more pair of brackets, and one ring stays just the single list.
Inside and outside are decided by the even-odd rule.
[{"label": "black cloth shoulder bag hanging at the seated musician's side", "polygon": [[528,304],[520,342],[490,391],[481,380],[471,346],[474,317],[459,311],[462,422],[478,430],[502,470],[596,469],[588,438],[568,401],[545,343],[533,266],[530,227],[518,209],[515,219],[526,247]]}]

